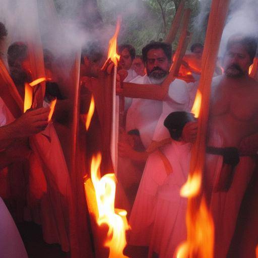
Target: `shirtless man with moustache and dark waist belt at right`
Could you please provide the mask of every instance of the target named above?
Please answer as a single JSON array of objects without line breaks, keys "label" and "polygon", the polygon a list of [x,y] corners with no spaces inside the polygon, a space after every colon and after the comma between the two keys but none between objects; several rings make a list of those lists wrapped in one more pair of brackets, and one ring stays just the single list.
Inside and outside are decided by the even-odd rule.
[{"label": "shirtless man with moustache and dark waist belt at right", "polygon": [[[251,37],[232,36],[225,73],[212,86],[205,187],[215,223],[215,258],[227,255],[258,150],[258,83],[248,76],[256,47]],[[188,123],[184,140],[193,141],[196,130]]]}]

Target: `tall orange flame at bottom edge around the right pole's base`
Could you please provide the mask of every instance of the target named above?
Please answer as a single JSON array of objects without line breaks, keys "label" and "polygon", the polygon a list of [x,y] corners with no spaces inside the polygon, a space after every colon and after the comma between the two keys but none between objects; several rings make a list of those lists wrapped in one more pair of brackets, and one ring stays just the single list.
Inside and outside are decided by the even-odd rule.
[{"label": "tall orange flame at bottom edge around the right pole's base", "polygon": [[213,258],[214,223],[205,198],[193,214],[187,211],[187,241],[177,249],[176,258]]}]

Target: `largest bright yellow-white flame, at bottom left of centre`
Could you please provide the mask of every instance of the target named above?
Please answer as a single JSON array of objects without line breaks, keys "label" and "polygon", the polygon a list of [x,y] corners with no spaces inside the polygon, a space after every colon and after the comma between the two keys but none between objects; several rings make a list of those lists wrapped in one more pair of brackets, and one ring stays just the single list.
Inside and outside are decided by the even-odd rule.
[{"label": "largest bright yellow-white flame, at bottom left of centre", "polygon": [[109,227],[107,240],[104,243],[106,247],[109,247],[109,258],[127,257],[123,255],[126,245],[125,231],[129,229],[127,212],[114,208],[116,178],[113,173],[105,174],[100,178],[100,163],[101,154],[98,153],[97,156],[93,156],[91,162],[91,180],[97,202],[96,221],[99,226],[105,223]]}]

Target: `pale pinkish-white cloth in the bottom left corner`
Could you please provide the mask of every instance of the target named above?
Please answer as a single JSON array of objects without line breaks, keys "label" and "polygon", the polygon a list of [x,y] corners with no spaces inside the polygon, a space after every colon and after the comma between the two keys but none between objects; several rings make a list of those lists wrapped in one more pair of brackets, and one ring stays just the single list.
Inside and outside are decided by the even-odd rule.
[{"label": "pale pinkish-white cloth in the bottom left corner", "polygon": [[2,198],[0,198],[0,257],[28,258],[22,238]]}]

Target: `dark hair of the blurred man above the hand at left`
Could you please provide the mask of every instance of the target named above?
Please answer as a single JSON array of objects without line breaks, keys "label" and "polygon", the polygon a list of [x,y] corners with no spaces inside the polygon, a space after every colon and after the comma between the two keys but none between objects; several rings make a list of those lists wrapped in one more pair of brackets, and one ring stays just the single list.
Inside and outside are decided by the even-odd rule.
[{"label": "dark hair of the blurred man above the hand at left", "polygon": [[28,46],[24,42],[14,42],[9,46],[7,54],[9,66],[12,66],[17,58],[26,58]]}]

